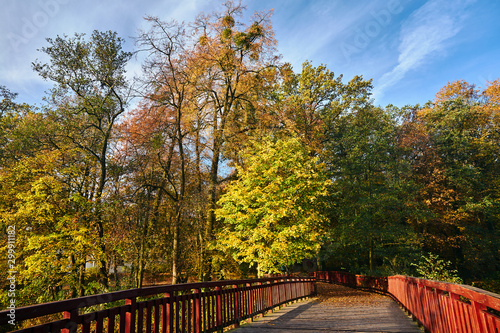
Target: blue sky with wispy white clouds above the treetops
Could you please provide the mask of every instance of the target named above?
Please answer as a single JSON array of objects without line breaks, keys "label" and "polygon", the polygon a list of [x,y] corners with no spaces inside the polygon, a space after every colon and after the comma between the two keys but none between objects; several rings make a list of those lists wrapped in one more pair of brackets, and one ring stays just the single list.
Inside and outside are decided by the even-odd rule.
[{"label": "blue sky with wispy white clouds above the treetops", "polygon": [[[17,102],[43,105],[53,83],[32,70],[46,38],[116,31],[125,48],[147,15],[191,22],[222,9],[212,0],[0,0],[0,85]],[[484,87],[500,78],[498,0],[244,0],[250,16],[273,10],[282,60],[326,65],[344,81],[373,79],[376,105],[423,104],[448,82]],[[140,72],[140,61],[128,66]]]}]

